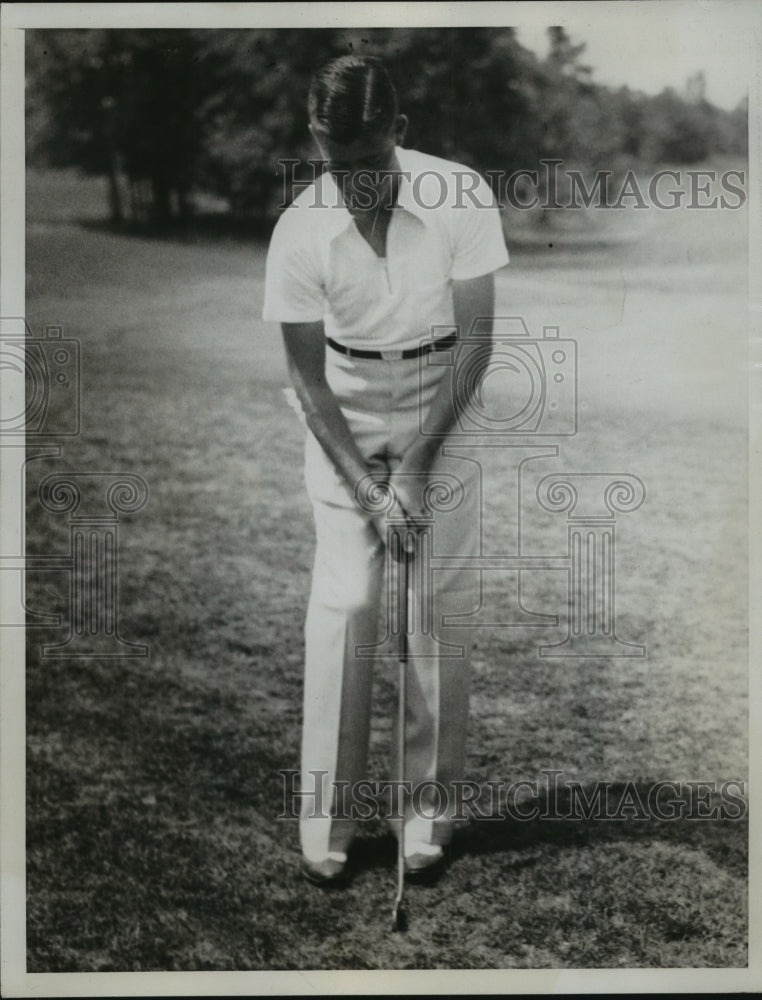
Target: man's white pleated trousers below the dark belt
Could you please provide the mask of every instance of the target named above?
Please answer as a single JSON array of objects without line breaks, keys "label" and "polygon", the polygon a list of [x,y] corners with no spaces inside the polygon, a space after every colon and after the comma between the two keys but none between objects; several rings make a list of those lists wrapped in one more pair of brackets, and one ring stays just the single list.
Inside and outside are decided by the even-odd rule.
[{"label": "man's white pleated trousers below the dark belt", "polygon": [[[326,376],[360,451],[383,455],[392,468],[416,438],[422,416],[446,370],[427,358],[357,360],[327,349]],[[431,356],[429,356],[430,358]],[[432,627],[409,638],[405,779],[414,794],[405,810],[405,835],[448,842],[455,803],[452,782],[463,775],[472,629],[445,624],[446,615],[478,607],[478,577],[457,568],[436,569],[442,556],[474,555],[479,546],[479,466],[467,457],[457,432],[440,445],[432,481],[443,483],[434,512],[433,561],[428,582],[414,574],[414,589],[431,591]],[[301,754],[300,837],[303,851],[320,857],[346,850],[356,822],[336,812],[336,789],[346,782],[344,804],[366,778],[374,661],[367,655],[379,634],[386,548],[321,446],[308,432],[305,480],[312,502],[316,552],[305,625],[305,683]],[[447,496],[449,492],[449,498]],[[414,603],[422,595],[414,595]],[[382,669],[397,676],[397,663]],[[396,716],[395,716],[396,718]],[[390,777],[397,775],[396,724]],[[444,789],[445,798],[438,789]],[[316,798],[312,792],[319,790]],[[342,812],[344,813],[342,815]],[[393,824],[394,825],[394,824]]]}]

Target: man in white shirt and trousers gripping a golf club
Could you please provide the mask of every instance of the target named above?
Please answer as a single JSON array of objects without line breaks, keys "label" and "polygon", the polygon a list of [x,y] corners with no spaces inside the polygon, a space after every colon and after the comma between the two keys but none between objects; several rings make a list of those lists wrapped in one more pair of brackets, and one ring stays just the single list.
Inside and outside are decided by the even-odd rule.
[{"label": "man in white shirt and trousers gripping a golf club", "polygon": [[[318,884],[347,875],[356,822],[337,808],[337,789],[349,789],[351,803],[367,777],[373,668],[359,651],[379,641],[387,512],[369,509],[359,487],[368,476],[387,482],[397,514],[420,532],[431,514],[426,487],[444,483],[452,502],[434,514],[435,560],[480,546],[480,469],[458,432],[468,398],[452,364],[474,320],[491,329],[493,272],[508,254],[487,183],[404,148],[406,128],[379,60],[344,56],[320,69],[309,129],[326,169],[282,214],[267,257],[263,315],[282,326],[308,427],[316,553],[299,829],[302,871]],[[441,866],[452,835],[454,796],[438,789],[463,775],[472,635],[457,616],[479,606],[474,572],[435,569],[431,583],[433,627],[414,629],[408,643],[411,875]]]}]

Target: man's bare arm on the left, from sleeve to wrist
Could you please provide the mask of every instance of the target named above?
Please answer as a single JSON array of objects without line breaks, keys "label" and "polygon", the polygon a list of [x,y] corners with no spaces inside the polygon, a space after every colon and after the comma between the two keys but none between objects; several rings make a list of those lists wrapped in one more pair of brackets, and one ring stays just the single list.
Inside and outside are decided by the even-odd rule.
[{"label": "man's bare arm on the left, from sleeve to wrist", "polygon": [[[314,323],[282,323],[286,361],[307,426],[333,462],[354,496],[360,480],[372,472],[386,478],[382,463],[366,461],[352,436],[325,377],[325,330],[322,320]],[[386,528],[376,518],[374,525],[384,538]]]}]

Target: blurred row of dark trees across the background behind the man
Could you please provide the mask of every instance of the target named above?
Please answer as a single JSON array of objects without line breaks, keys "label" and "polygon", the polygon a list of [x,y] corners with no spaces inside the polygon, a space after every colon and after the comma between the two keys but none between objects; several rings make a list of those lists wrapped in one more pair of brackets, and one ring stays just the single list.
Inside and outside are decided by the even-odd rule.
[{"label": "blurred row of dark trees across the background behind the man", "polygon": [[584,44],[548,35],[541,59],[512,28],[27,31],[27,159],[106,177],[114,222],[187,218],[198,192],[272,221],[280,161],[299,160],[293,180],[312,176],[310,77],[347,52],[385,60],[408,145],[483,173],[746,156],[746,106],[709,103],[701,73],[681,92],[610,88]]}]

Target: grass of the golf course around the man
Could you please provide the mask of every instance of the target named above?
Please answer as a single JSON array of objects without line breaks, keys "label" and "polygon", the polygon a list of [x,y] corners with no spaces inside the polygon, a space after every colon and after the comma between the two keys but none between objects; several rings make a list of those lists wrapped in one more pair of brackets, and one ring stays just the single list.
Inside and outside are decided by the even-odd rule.
[{"label": "grass of the golf course around the man", "polygon": [[[344,893],[302,885],[277,772],[298,764],[312,524],[278,333],[259,319],[265,247],[83,227],[71,215],[94,217],[93,199],[65,182],[69,214],[50,209],[60,179],[30,179],[27,317],[81,340],[83,430],[29,466],[29,547],[68,544],[36,500],[44,475],[142,476],[149,503],[120,525],[120,630],[150,656],[43,659],[62,630],[29,632],[29,971],[745,965],[743,821],[471,823],[446,877],[410,891],[404,936],[383,821]],[[631,214],[615,247],[517,251],[498,310],[579,344],[580,433],[527,466],[525,550],[565,545],[563,516],[531,501],[541,474],[639,475],[646,504],[617,526],[617,627],[648,656],[545,660],[538,641],[562,627],[481,630],[480,784],[558,768],[647,795],[746,775],[744,219]],[[495,551],[515,533],[510,462],[489,469]],[[509,585],[492,577],[488,599]],[[533,610],[563,607],[558,574],[524,585]],[[31,607],[68,599],[63,574],[29,574]],[[377,672],[375,777],[392,673]]]}]

